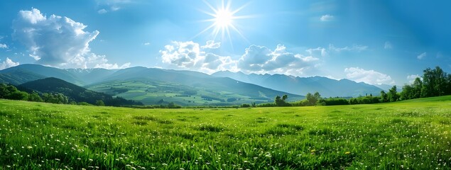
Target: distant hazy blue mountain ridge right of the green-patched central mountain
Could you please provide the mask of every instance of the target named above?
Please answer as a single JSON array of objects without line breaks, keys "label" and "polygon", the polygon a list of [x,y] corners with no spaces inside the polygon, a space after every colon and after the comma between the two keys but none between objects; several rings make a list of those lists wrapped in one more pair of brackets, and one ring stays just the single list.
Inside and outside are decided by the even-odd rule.
[{"label": "distant hazy blue mountain ridge right of the green-patched central mountain", "polygon": [[269,89],[287,91],[291,94],[305,95],[318,91],[324,97],[357,97],[372,94],[378,96],[382,89],[348,79],[329,79],[326,77],[291,77],[283,74],[244,74],[242,72],[222,71],[212,74],[214,77],[229,77]]}]

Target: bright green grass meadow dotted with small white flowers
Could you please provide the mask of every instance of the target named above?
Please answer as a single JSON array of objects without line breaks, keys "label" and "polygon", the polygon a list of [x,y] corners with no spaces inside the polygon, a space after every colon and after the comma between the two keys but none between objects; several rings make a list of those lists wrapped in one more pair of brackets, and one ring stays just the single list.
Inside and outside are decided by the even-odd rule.
[{"label": "bright green grass meadow dotted with small white flowers", "polygon": [[450,169],[451,96],[134,109],[0,100],[0,169]]}]

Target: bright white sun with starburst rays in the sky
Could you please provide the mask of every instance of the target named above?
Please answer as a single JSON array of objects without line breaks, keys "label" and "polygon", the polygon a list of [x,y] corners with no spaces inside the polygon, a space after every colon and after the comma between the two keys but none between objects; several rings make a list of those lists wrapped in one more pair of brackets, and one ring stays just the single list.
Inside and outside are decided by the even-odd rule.
[{"label": "bright white sun with starburst rays in the sky", "polygon": [[[242,18],[251,18],[251,16],[236,15],[247,4],[235,10],[232,10],[230,8],[231,1],[227,1],[227,4],[224,4],[224,0],[222,0],[221,2],[222,3],[217,8],[214,8],[207,1],[204,1],[204,3],[207,4],[207,6],[210,8],[211,12],[209,11],[202,12],[211,16],[212,18],[202,21],[211,22],[212,24],[210,24],[210,26],[202,30],[200,33],[198,33],[195,37],[201,35],[202,33],[205,33],[207,30],[212,30],[212,35],[214,39],[217,39],[217,35],[221,35],[222,40],[224,40],[225,38],[229,38],[229,40],[231,40],[232,36],[230,35],[230,32],[231,30],[234,30],[234,32],[238,33],[241,36],[241,38],[244,38],[244,35],[238,29],[237,23],[235,23],[234,21]],[[244,40],[246,40],[246,38],[244,38]]]}]

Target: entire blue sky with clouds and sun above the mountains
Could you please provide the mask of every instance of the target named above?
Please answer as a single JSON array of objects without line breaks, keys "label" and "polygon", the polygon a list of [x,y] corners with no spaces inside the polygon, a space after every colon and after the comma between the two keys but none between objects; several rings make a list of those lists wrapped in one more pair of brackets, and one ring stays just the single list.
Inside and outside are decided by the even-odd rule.
[{"label": "entire blue sky with clouds and sun above the mountains", "polygon": [[27,63],[144,66],[403,85],[427,67],[451,72],[449,6],[404,0],[1,1],[0,69]]}]

